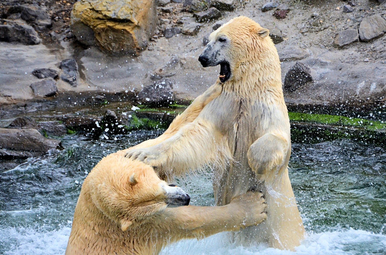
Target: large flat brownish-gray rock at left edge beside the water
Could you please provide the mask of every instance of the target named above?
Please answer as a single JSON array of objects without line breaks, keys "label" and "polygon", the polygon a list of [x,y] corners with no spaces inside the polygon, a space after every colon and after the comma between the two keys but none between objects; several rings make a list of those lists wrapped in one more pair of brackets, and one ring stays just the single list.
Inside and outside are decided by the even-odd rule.
[{"label": "large flat brownish-gray rock at left edge beside the water", "polygon": [[32,151],[40,155],[61,144],[56,139],[47,139],[36,129],[0,128],[0,148],[16,151]]}]

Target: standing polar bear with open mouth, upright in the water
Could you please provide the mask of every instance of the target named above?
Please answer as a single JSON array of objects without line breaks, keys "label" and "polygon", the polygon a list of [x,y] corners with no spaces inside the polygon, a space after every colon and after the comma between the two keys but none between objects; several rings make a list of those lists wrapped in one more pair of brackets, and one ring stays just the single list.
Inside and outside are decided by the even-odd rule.
[{"label": "standing polar bear with open mouth, upright in the water", "polygon": [[268,35],[269,30],[244,16],[212,32],[199,61],[203,67],[220,64],[221,94],[170,138],[126,156],[166,175],[212,164],[217,205],[262,191],[267,220],[235,238],[293,250],[305,230],[288,177],[291,138],[280,61]]}]

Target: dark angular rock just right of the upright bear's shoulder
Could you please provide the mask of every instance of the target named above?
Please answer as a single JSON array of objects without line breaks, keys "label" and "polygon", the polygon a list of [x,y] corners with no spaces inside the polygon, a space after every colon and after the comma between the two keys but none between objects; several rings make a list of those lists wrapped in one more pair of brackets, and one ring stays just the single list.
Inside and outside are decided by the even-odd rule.
[{"label": "dark angular rock just right of the upright bear's shoulder", "polygon": [[296,64],[287,72],[284,79],[284,91],[295,91],[299,87],[312,82],[315,79],[314,70],[308,65],[296,62]]}]

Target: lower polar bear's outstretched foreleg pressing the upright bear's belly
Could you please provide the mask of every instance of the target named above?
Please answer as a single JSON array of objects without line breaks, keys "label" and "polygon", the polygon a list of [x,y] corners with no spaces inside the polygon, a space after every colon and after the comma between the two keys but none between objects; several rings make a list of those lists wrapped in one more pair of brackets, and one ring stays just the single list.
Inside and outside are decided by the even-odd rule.
[{"label": "lower polar bear's outstretched foreleg pressing the upright bear's belly", "polygon": [[[257,225],[266,219],[265,200],[258,192],[235,197],[224,206],[180,206],[167,208],[163,213],[172,236],[204,238],[222,231],[238,231]],[[178,240],[174,240],[178,241]]]}]

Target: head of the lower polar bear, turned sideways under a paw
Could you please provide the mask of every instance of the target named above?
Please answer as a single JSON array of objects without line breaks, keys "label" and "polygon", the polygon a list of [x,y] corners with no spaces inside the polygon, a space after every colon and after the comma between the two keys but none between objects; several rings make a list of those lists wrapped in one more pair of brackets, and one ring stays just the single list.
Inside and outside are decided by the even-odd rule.
[{"label": "head of the lower polar bear, turned sideways under a paw", "polygon": [[118,153],[103,158],[83,185],[87,185],[93,204],[122,230],[168,206],[184,206],[190,201],[181,188],[159,179],[153,168]]}]

